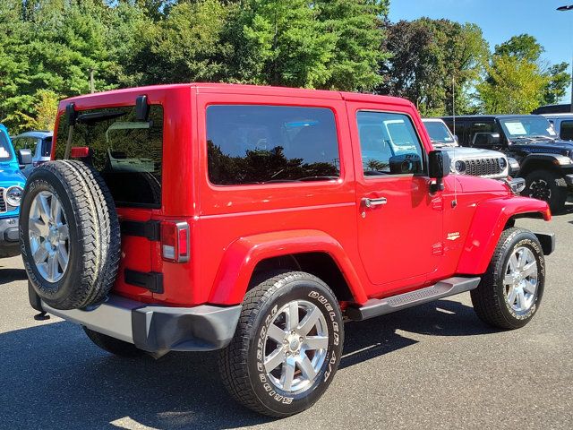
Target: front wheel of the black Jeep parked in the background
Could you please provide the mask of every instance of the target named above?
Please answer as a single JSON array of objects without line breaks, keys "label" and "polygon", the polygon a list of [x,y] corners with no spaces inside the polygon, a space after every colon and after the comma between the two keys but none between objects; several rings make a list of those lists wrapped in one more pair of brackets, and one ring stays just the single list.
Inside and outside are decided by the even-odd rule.
[{"label": "front wheel of the black Jeep parked in the background", "polygon": [[565,178],[553,170],[534,170],[526,176],[526,188],[522,195],[549,203],[553,213],[565,209],[568,188]]}]

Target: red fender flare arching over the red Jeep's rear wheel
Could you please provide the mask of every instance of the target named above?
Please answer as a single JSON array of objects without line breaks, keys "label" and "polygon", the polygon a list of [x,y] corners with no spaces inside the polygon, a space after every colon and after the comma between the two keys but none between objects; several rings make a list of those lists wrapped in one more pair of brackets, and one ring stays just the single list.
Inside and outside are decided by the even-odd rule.
[{"label": "red fender flare arching over the red Jeep's rear wheel", "polygon": [[212,285],[209,303],[237,305],[243,302],[256,265],[288,254],[325,253],[338,265],[356,302],[367,297],[352,262],[338,241],[320,230],[286,230],[241,237],[227,247]]}]

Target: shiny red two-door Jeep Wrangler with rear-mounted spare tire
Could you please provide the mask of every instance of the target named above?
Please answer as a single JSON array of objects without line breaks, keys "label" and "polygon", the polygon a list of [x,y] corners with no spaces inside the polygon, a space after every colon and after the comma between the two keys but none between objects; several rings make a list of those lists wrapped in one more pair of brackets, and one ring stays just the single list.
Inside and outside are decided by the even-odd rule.
[{"label": "shiny red two-door Jeep Wrangler with rear-mounted spare tire", "polygon": [[344,321],[471,290],[503,329],[537,311],[551,219],[512,183],[448,176],[412,103],[224,84],[60,103],[30,175],[21,252],[30,304],[120,356],[221,349],[231,395],[309,408]]}]

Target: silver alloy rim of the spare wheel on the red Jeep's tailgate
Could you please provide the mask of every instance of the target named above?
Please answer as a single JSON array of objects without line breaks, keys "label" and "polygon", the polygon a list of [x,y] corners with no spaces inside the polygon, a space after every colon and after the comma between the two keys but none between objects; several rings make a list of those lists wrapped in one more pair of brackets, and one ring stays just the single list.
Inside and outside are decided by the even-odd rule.
[{"label": "silver alloy rim of the spare wheel on the red Jeep's tailgate", "polygon": [[34,197],[28,235],[40,276],[48,282],[61,280],[70,260],[70,235],[62,203],[54,193],[42,191]]}]

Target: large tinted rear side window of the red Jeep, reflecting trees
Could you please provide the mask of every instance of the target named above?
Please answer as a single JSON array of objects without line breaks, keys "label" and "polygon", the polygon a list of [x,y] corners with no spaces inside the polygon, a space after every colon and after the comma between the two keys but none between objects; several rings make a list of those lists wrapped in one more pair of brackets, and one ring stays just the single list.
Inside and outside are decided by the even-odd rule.
[{"label": "large tinted rear side window of the red Jeep, reflecting trees", "polygon": [[334,113],[322,107],[210,106],[209,179],[249,185],[337,179]]}]

